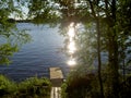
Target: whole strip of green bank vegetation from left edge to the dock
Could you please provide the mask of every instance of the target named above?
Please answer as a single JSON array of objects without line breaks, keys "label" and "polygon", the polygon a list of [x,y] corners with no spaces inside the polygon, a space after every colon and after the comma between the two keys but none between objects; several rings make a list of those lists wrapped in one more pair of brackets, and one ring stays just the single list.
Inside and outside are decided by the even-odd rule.
[{"label": "whole strip of green bank vegetation from left edge to the dock", "polygon": [[51,83],[48,78],[29,77],[14,83],[0,75],[0,98],[49,98]]}]

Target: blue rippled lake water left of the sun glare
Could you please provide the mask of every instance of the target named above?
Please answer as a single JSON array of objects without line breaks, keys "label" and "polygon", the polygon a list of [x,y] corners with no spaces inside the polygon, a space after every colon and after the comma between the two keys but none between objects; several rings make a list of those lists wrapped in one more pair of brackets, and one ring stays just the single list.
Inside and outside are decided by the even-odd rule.
[{"label": "blue rippled lake water left of the sun glare", "polygon": [[31,76],[49,77],[50,66],[60,66],[64,75],[68,73],[68,58],[60,51],[64,38],[59,35],[58,27],[29,23],[17,24],[17,27],[29,29],[27,33],[33,40],[14,53],[10,65],[0,65],[0,74],[20,82]]}]

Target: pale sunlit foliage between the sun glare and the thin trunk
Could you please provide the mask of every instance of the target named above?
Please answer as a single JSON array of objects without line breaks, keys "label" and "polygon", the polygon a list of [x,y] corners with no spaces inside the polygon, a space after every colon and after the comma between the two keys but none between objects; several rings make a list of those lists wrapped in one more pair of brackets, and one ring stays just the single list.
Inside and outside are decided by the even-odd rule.
[{"label": "pale sunlit foliage between the sun glare and the thin trunk", "polygon": [[[94,68],[94,61],[96,60],[96,32],[95,24],[84,24],[84,30],[78,29],[76,41],[76,57],[78,63],[84,66],[84,69]],[[86,68],[85,68],[86,66]],[[82,68],[81,68],[82,69]]]}]

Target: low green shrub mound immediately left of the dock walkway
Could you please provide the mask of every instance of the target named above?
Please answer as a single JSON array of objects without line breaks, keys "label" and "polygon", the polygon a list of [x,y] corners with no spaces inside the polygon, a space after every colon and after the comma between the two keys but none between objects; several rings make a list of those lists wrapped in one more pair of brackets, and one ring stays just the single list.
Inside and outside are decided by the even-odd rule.
[{"label": "low green shrub mound immediately left of the dock walkway", "polygon": [[23,98],[23,97],[39,98],[40,96],[49,97],[50,89],[51,89],[51,83],[47,78],[31,77],[19,84],[17,96],[19,98]]}]

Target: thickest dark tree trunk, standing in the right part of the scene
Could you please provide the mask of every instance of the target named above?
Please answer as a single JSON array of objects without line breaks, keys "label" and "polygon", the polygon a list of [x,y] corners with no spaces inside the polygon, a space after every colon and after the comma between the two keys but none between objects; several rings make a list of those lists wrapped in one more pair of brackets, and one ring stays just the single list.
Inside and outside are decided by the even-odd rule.
[{"label": "thickest dark tree trunk, standing in the right part of the scene", "polygon": [[118,97],[119,73],[118,73],[118,42],[116,32],[116,0],[111,2],[111,25],[108,24],[108,52],[109,52],[109,77],[111,87],[111,98]]}]

